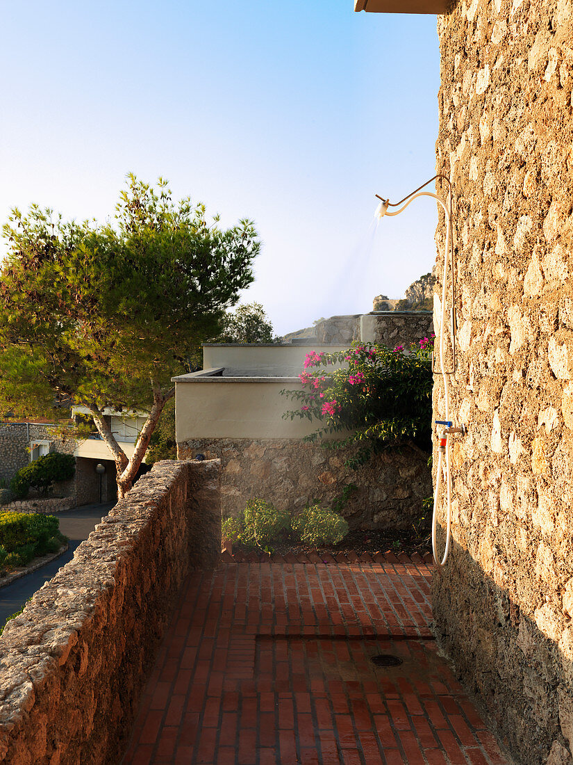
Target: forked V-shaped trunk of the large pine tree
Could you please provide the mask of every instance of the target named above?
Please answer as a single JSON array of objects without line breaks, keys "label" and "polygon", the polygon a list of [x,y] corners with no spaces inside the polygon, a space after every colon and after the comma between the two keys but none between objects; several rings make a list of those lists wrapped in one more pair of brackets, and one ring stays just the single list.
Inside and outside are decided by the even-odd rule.
[{"label": "forked V-shaped trunk of the large pine tree", "polygon": [[143,462],[145,452],[151,441],[151,436],[153,435],[157,422],[159,422],[161,412],[163,412],[163,407],[169,399],[172,399],[173,396],[175,396],[175,388],[170,389],[170,391],[163,396],[160,386],[153,380],[151,381],[151,387],[154,392],[154,402],[151,406],[151,411],[147,416],[147,420],[145,421],[143,428],[141,428],[131,459],[128,459],[123,449],[121,449],[120,445],[115,440],[112,428],[105,422],[105,418],[99,409],[95,405],[88,405],[96,428],[98,428],[100,435],[113,454],[116,471],[115,480],[118,484],[118,500],[123,499],[133,486],[134,477],[138,474],[139,467]]}]

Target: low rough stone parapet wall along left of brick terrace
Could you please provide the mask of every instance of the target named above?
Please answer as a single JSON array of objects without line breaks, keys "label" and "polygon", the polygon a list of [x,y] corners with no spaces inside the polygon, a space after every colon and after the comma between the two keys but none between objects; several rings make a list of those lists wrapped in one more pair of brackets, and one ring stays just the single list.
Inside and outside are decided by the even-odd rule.
[{"label": "low rough stone parapet wall along left of brick terrace", "polygon": [[155,464],[0,637],[0,762],[120,762],[180,585],[220,545],[219,463]]}]

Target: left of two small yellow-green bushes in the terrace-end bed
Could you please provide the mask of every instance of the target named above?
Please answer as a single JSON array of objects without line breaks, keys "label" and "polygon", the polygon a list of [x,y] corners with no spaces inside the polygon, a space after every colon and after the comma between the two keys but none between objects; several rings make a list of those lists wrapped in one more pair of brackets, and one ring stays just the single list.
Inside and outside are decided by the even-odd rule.
[{"label": "left of two small yellow-green bushes in the terrace-end bed", "polygon": [[265,500],[254,499],[248,501],[238,518],[223,521],[222,535],[231,542],[272,552],[271,545],[278,542],[289,527],[288,510],[280,510]]}]

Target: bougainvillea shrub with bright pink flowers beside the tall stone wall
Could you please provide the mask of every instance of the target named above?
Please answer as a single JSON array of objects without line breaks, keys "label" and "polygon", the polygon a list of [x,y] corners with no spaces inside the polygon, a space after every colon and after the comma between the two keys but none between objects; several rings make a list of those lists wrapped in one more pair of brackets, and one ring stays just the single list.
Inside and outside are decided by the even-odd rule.
[{"label": "bougainvillea shrub with bright pink flowers beside the tall stone wall", "polygon": [[354,343],[335,353],[312,351],[299,374],[302,390],[281,391],[298,404],[283,417],[321,423],[306,441],[340,433],[341,438],[324,445],[358,444],[347,461],[351,467],[400,444],[432,451],[433,347],[432,334],[411,343],[409,352],[374,343]]}]

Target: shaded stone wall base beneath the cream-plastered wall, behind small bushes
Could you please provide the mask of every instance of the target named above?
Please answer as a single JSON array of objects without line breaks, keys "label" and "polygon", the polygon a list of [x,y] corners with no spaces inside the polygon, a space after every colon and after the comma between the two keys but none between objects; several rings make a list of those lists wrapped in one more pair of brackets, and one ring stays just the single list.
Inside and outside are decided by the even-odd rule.
[{"label": "shaded stone wall base beneath the cream-plastered wall, behind small bushes", "polygon": [[298,439],[215,438],[178,444],[180,458],[204,454],[221,460],[223,513],[237,515],[252,497],[280,509],[323,506],[351,494],[342,515],[351,529],[410,529],[432,494],[428,455],[416,448],[387,451],[359,470],[344,466],[348,451],[324,449]]}]

